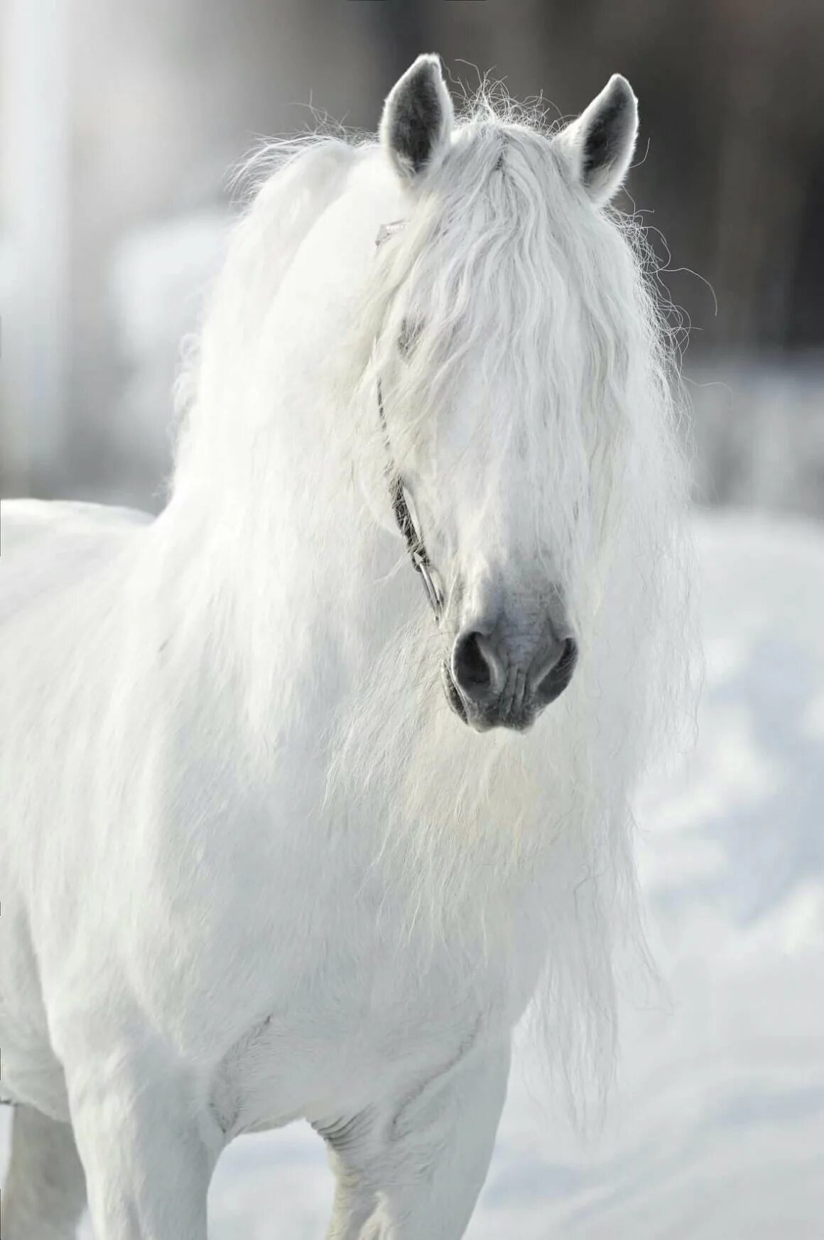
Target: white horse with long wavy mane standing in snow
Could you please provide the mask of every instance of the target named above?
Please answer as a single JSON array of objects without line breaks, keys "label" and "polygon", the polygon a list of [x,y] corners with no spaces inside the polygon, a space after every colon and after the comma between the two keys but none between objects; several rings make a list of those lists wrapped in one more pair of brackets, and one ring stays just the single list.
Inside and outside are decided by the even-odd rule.
[{"label": "white horse with long wavy mane standing in snow", "polygon": [[162,515],[4,503],[2,1240],[87,1194],[203,1240],[224,1146],[297,1117],[330,1236],[452,1240],[530,998],[572,1087],[608,1065],[688,663],[636,128],[617,76],[456,123],[420,57],[378,141],[278,149]]}]

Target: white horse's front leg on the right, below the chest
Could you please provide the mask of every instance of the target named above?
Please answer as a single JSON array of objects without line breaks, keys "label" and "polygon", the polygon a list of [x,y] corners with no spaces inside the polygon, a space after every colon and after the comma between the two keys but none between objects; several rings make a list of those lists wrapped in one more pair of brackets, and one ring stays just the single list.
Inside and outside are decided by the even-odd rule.
[{"label": "white horse's front leg on the right, below the chest", "polygon": [[467,1055],[343,1143],[327,1240],[458,1240],[481,1192],[507,1094],[509,1045]]}]

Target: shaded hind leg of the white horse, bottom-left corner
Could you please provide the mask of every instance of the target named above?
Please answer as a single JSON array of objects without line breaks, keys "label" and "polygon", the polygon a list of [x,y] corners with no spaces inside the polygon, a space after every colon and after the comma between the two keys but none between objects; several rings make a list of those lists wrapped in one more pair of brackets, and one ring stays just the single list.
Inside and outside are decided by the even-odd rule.
[{"label": "shaded hind leg of the white horse, bottom-left corner", "polygon": [[72,1240],[84,1205],[85,1178],[71,1125],[16,1106],[0,1205],[2,1240]]}]

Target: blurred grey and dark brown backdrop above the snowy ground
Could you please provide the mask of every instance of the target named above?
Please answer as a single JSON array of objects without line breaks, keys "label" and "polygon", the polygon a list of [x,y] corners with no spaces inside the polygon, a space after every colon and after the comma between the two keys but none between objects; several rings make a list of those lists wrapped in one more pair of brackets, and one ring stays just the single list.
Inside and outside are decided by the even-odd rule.
[{"label": "blurred grey and dark brown backdrop above the snowy ground", "polygon": [[698,494],[824,512],[819,0],[1,4],[2,495],[162,502],[228,170],[312,107],[374,129],[437,50],[456,86],[488,72],[550,118],[631,79],[628,190],[691,324]]}]

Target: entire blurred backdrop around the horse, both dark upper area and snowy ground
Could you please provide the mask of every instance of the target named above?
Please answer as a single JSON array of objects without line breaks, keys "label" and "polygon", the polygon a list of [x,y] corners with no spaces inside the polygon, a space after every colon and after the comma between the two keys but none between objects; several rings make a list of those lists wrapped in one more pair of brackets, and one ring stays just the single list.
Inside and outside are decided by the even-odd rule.
[{"label": "entire blurred backdrop around the horse, both dark upper area and snowy ground", "polygon": [[[162,506],[180,342],[263,136],[374,129],[420,51],[550,119],[629,78],[623,206],[691,329],[708,662],[696,751],[638,807],[669,998],[626,1002],[597,1146],[548,1122],[523,1050],[470,1235],[822,1240],[822,0],[0,0],[0,21],[2,497]],[[213,1235],[320,1236],[330,1200],[310,1132],[244,1138]]]}]

